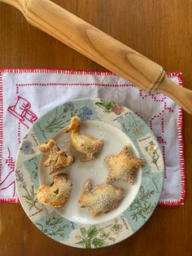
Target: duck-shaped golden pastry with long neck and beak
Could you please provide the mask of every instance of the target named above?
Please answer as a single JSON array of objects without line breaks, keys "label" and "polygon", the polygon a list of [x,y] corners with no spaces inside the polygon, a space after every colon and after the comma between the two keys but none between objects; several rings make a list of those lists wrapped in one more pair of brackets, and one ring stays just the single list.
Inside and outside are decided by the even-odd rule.
[{"label": "duck-shaped golden pastry with long neck and beak", "polygon": [[72,146],[76,151],[85,154],[85,157],[81,157],[81,161],[94,160],[95,154],[103,148],[104,141],[102,139],[96,139],[91,135],[80,134],[80,128],[80,117],[72,117],[70,125],[64,130],[64,132],[68,133],[69,130],[72,130]]}]

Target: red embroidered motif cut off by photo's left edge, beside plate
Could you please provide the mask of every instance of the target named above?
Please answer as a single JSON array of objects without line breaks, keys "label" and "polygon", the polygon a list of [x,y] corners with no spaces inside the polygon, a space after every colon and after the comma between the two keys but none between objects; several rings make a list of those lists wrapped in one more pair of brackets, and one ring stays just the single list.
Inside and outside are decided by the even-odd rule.
[{"label": "red embroidered motif cut off by photo's left edge, beside plate", "polygon": [[7,188],[10,188],[13,186],[13,197],[15,196],[15,161],[13,161],[13,157],[11,157],[11,152],[10,149],[7,148],[8,150],[8,157],[6,159],[6,164],[10,169],[10,172],[7,174],[5,179],[2,180],[0,183],[0,190],[5,190]]}]

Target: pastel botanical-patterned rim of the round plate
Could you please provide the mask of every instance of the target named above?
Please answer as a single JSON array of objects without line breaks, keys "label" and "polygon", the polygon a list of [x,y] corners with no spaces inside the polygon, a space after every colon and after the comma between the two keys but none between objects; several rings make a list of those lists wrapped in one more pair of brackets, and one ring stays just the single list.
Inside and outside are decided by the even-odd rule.
[{"label": "pastel botanical-patterned rim of the round plate", "polygon": [[[133,202],[120,216],[105,223],[73,223],[37,201],[40,184],[37,148],[67,126],[75,115],[82,121],[104,121],[116,126],[133,141],[139,156],[147,161]],[[163,188],[164,161],[150,128],[129,108],[103,99],[75,99],[50,110],[28,130],[20,145],[15,173],[21,205],[41,232],[65,245],[101,248],[123,241],[150,218]]]}]

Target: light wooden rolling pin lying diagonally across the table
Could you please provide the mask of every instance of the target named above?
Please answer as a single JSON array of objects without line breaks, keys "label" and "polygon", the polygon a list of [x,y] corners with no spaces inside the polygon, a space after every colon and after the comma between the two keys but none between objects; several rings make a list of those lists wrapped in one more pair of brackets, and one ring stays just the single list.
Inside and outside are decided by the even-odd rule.
[{"label": "light wooden rolling pin lying diagonally across the table", "polygon": [[147,91],[159,91],[192,114],[192,91],[165,76],[164,68],[49,0],[0,0],[30,24]]}]

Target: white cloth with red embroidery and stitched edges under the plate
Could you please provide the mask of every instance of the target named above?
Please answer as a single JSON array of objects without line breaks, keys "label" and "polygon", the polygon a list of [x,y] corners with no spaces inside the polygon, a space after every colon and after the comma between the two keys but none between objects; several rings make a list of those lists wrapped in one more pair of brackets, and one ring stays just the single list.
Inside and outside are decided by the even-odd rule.
[{"label": "white cloth with red embroidery and stitched edges under the plate", "polygon": [[[181,86],[181,73],[167,76]],[[28,128],[51,108],[77,98],[109,99],[146,121],[164,156],[164,190],[159,204],[182,205],[185,161],[181,108],[165,95],[140,90],[114,73],[60,69],[0,69],[0,201],[19,202],[15,156]]]}]

